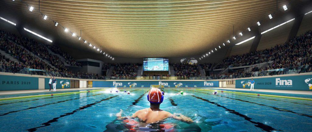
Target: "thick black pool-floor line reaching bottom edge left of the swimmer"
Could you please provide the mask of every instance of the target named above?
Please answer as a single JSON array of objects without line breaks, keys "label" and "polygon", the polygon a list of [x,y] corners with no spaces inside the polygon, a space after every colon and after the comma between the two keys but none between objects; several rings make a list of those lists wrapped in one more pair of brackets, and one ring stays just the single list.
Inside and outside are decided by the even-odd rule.
[{"label": "thick black pool-floor line reaching bottom edge left of the swimmer", "polygon": [[119,96],[119,95],[111,96],[111,97],[108,97],[108,98],[106,98],[106,99],[102,99],[102,100],[100,100],[100,101],[96,101],[96,102],[94,102],[94,103],[92,103],[92,104],[87,104],[87,105],[85,105],[85,106],[81,106],[81,107],[79,107],[78,109],[73,110],[72,112],[62,114],[62,115],[60,115],[59,117],[53,118],[53,119],[51,119],[51,120],[49,120],[49,121],[47,121],[47,122],[45,122],[45,123],[42,123],[41,125],[43,125],[43,126],[34,127],[34,128],[31,128],[31,129],[27,129],[27,130],[28,130],[29,132],[36,131],[38,128],[45,127],[45,126],[49,126],[49,125],[51,125],[51,123],[57,122],[58,119],[60,119],[60,118],[62,118],[62,117],[65,117],[65,116],[74,114],[74,113],[76,113],[76,112],[78,112],[78,111],[80,111],[80,110],[86,109],[86,108],[91,107],[91,106],[93,106],[93,105],[95,105],[95,104],[99,104],[99,103],[101,103],[102,101],[109,100],[109,99],[112,99],[112,98],[117,97],[117,96]]}]

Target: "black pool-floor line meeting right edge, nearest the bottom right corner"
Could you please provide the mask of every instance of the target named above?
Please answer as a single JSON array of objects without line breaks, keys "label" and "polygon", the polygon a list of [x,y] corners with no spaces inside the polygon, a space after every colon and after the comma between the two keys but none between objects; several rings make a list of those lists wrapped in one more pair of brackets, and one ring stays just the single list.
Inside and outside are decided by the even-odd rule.
[{"label": "black pool-floor line meeting right edge, nearest the bottom right corner", "polygon": [[[192,90],[189,90],[189,91],[192,91]],[[193,92],[198,92],[198,91],[193,91]],[[208,94],[208,93],[204,93],[204,92],[198,92],[198,93]],[[209,95],[211,95],[211,94],[209,94]],[[277,108],[277,107],[274,107],[274,106],[269,106],[269,105],[265,105],[265,104],[259,104],[259,103],[256,103],[256,102],[250,102],[250,101],[241,100],[241,99],[230,98],[230,97],[221,96],[221,95],[217,95],[217,94],[213,94],[213,95],[216,95],[216,96],[219,96],[219,97],[228,98],[228,99],[238,100],[238,101],[242,101],[242,102],[247,102],[247,103],[251,103],[251,104],[257,104],[257,105],[261,105],[261,106],[266,106],[266,107],[270,107],[270,108],[276,109],[278,111],[290,112],[290,113],[293,113],[293,114],[302,115],[302,116],[306,116],[306,117],[312,118],[312,115],[296,113],[296,112],[288,110],[288,109],[281,109],[281,108]]]}]

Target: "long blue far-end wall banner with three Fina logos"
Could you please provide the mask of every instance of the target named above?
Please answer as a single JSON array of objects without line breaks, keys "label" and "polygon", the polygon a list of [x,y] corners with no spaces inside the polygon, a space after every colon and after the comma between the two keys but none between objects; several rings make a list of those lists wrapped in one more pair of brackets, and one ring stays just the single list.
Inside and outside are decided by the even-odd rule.
[{"label": "long blue far-end wall banner with three Fina logos", "polygon": [[149,88],[150,85],[164,85],[165,88],[211,88],[219,87],[219,81],[93,81],[93,87]]}]

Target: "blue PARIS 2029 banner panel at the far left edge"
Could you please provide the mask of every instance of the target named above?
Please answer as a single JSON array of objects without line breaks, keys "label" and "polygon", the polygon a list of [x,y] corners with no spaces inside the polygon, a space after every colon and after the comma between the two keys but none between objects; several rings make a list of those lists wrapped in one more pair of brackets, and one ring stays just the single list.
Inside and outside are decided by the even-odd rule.
[{"label": "blue PARIS 2029 banner panel at the far left edge", "polygon": [[38,78],[0,75],[0,91],[38,89]]}]

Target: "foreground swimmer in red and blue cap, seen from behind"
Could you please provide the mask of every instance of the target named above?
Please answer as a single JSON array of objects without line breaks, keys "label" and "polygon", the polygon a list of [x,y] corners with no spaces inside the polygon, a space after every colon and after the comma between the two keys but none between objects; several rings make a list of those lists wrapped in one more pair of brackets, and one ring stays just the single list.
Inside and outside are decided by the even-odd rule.
[{"label": "foreground swimmer in red and blue cap, seen from behind", "polygon": [[159,109],[160,104],[163,102],[163,94],[158,88],[152,88],[149,90],[147,100],[150,102],[150,108],[138,110],[131,117],[122,117],[122,109],[120,109],[120,112],[116,114],[117,119],[123,120],[139,118],[144,123],[153,123],[167,118],[173,118],[187,123],[193,122],[191,118],[182,114],[180,114],[180,116],[176,116],[170,112]]}]

